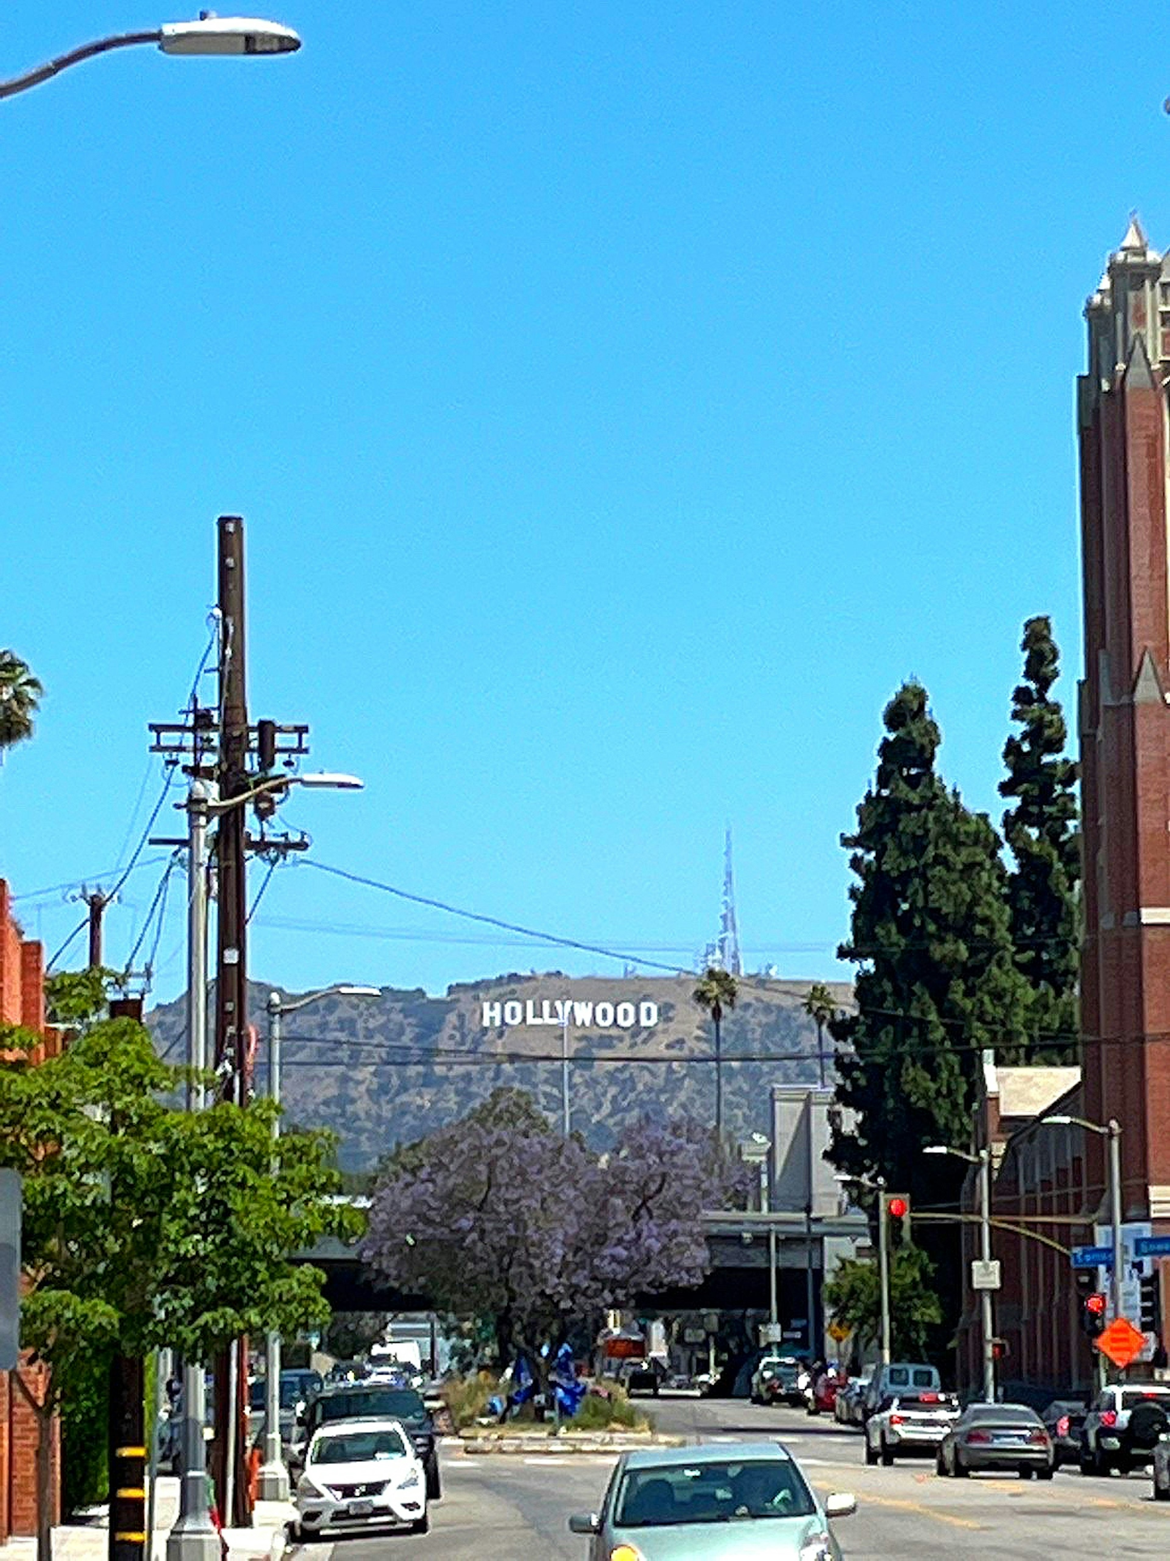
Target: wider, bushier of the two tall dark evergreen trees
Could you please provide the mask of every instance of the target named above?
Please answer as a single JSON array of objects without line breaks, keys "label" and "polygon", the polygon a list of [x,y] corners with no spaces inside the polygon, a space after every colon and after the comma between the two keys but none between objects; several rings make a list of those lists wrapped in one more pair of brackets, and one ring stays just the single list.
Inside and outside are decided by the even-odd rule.
[{"label": "wider, bushier of the two tall dark evergreen trees", "polygon": [[895,693],[885,727],[856,830],[842,837],[856,882],[839,957],[860,969],[856,1010],[830,1021],[853,1113],[830,1154],[849,1175],[924,1197],[953,1168],[922,1149],[969,1143],[980,1051],[1019,1055],[1028,1001],[1000,840],[936,773],[941,735],[920,684]]}]

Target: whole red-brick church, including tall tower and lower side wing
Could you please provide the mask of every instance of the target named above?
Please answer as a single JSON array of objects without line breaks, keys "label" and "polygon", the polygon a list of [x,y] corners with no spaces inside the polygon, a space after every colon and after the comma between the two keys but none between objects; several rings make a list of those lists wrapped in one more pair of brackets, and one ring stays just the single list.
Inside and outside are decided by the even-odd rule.
[{"label": "whole red-brick church, including tall tower and lower side wing", "polygon": [[[1000,1121],[984,1088],[977,1124],[997,1165],[995,1214],[1041,1216],[1034,1229],[1062,1246],[1104,1239],[1104,1140],[1045,1125],[1045,1113],[1095,1124],[1115,1118],[1123,1219],[1170,1233],[1170,254],[1150,248],[1137,219],[1109,256],[1084,317],[1087,370],[1076,396],[1083,1066],[1062,1094],[1014,1122]],[[1078,1338],[1069,1258],[998,1232],[995,1250],[1005,1264],[997,1300],[997,1328],[1009,1347],[1005,1378],[1036,1388],[1086,1381],[1090,1361]],[[1165,1269],[1164,1260],[1154,1268]],[[1156,1342],[1164,1346],[1165,1271],[1158,1288]],[[977,1358],[972,1324],[966,1319],[959,1339],[967,1377]]]}]

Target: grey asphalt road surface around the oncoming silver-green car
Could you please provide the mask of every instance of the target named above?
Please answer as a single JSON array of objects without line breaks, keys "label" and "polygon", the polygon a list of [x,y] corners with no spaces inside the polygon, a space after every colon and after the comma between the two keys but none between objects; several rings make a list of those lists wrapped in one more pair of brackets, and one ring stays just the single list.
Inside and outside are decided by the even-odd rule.
[{"label": "grey asphalt road surface around the oncoming silver-green car", "polygon": [[[663,1397],[663,1431],[711,1438],[780,1436],[817,1491],[853,1491],[855,1517],[836,1525],[849,1561],[1059,1561],[1170,1555],[1170,1506],[1150,1497],[1150,1477],[1086,1480],[1061,1470],[1051,1485],[995,1475],[939,1480],[919,1460],[866,1467],[858,1431],[797,1410],[738,1400]],[[443,1450],[443,1500],[426,1536],[348,1538],[300,1547],[300,1561],[582,1561],[569,1513],[596,1508],[612,1460],[604,1456],[468,1456]],[[332,1552],[332,1555],[329,1555]]]}]

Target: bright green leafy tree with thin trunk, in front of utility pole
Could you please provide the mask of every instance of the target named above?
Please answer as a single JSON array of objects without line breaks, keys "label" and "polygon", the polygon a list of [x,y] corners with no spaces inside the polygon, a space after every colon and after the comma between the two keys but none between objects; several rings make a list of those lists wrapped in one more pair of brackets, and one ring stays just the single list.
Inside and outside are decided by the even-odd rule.
[{"label": "bright green leafy tree with thin trunk, in front of utility pole", "polygon": [[329,1200],[328,1138],[275,1144],[267,1101],[175,1110],[165,1097],[183,1077],[133,1019],[95,1024],[39,1066],[0,1066],[0,1165],[25,1179],[22,1344],[50,1367],[36,1405],[39,1561],[50,1421],[73,1385],[92,1388],[95,1363],[162,1346],[207,1360],[243,1333],[329,1316],[323,1275],[289,1261],[349,1230]]}]

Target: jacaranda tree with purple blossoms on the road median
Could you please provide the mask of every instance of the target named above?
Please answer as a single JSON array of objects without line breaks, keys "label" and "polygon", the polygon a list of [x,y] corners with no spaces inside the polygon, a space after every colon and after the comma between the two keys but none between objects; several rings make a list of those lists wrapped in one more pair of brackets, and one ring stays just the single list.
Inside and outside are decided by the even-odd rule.
[{"label": "jacaranda tree with purple blossoms on the road median", "polygon": [[743,1199],[743,1171],[697,1122],[641,1121],[597,1158],[519,1090],[392,1158],[362,1255],[445,1311],[491,1317],[501,1360],[555,1347],[636,1296],[697,1285],[700,1214]]}]

